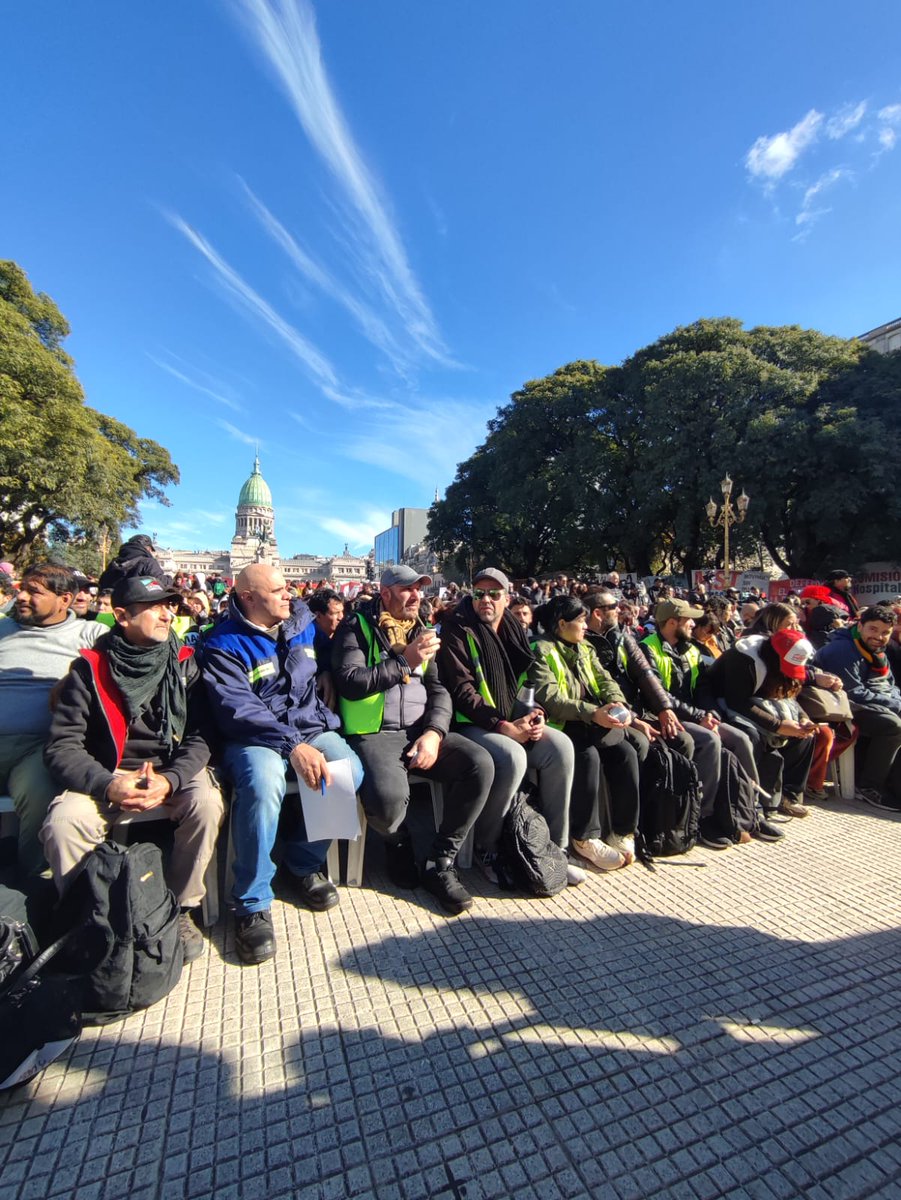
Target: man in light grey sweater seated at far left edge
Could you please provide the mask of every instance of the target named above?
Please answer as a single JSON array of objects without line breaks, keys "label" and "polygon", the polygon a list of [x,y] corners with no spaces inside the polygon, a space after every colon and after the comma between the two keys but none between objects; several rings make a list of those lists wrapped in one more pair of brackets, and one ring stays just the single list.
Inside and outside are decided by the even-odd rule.
[{"label": "man in light grey sweater seated at far left edge", "polygon": [[74,592],[67,566],[32,566],[22,578],[12,614],[0,622],[0,788],[16,802],[24,876],[44,869],[38,833],[58,792],[43,756],[50,691],[78,652],[104,631],[70,612]]}]

